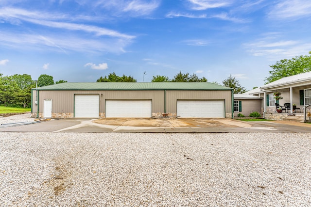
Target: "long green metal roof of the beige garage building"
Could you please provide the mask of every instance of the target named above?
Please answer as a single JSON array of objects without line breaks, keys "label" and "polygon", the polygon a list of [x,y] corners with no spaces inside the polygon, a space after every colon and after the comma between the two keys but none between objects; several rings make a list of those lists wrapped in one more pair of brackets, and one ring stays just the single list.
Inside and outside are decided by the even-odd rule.
[{"label": "long green metal roof of the beige garage building", "polygon": [[[232,90],[210,82],[66,82],[38,90]],[[35,90],[35,88],[33,89]]]}]

